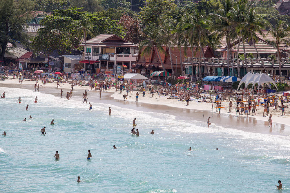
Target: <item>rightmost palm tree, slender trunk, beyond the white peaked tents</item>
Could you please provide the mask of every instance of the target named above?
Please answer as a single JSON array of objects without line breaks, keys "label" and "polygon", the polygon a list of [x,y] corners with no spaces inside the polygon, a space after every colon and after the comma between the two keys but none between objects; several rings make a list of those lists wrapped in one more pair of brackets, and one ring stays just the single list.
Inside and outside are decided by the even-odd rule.
[{"label": "rightmost palm tree, slender trunk, beyond the white peaked tents", "polygon": [[269,32],[267,33],[267,35],[270,33],[274,38],[276,38],[275,43],[277,47],[280,76],[282,76],[282,71],[279,45],[280,43],[287,41],[287,38],[289,37],[289,32],[290,29],[286,21],[279,20],[275,27],[273,27],[272,25],[270,26]]}]

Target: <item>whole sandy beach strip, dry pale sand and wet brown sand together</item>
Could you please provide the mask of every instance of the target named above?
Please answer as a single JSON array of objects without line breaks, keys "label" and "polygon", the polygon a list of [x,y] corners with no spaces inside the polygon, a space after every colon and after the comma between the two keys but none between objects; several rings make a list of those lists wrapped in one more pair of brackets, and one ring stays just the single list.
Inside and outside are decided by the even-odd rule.
[{"label": "whole sandy beach strip, dry pale sand and wet brown sand together", "polygon": [[[6,79],[0,82],[0,87],[34,90],[35,81],[24,80],[24,84],[18,82],[18,79]],[[64,92],[70,91],[70,84],[61,83],[61,88],[58,89],[56,89],[56,82],[47,83],[46,86],[39,85],[40,92],[53,94],[58,97],[60,96],[60,89],[63,89]],[[88,91],[88,89],[88,86],[75,86],[73,100],[82,101],[82,93],[84,93],[84,90]],[[139,102],[135,102],[135,93],[137,91],[133,91],[133,95],[129,95],[127,100],[124,101],[123,94],[125,92],[119,92],[115,92],[115,89],[112,88],[109,92],[103,91],[102,98],[99,98],[99,91],[88,91],[88,102],[112,104],[138,111],[170,114],[179,120],[202,121],[205,124],[207,118],[211,116],[212,123],[225,128],[237,128],[244,131],[273,135],[290,135],[290,127],[288,127],[290,125],[289,112],[286,111],[285,116],[280,117],[281,112],[279,110],[276,112],[273,110],[273,107],[270,108],[270,113],[273,114],[273,127],[269,128],[268,116],[262,117],[261,107],[258,109],[256,116],[250,115],[249,118],[245,118],[244,114],[236,117],[234,109],[232,109],[232,113],[222,110],[221,114],[217,115],[215,109],[213,109],[212,113],[211,103],[200,103],[197,100],[191,101],[190,105],[186,106],[186,102],[181,102],[177,99],[166,99],[166,96],[160,96],[158,99],[157,94],[155,94],[155,97],[151,97],[151,94],[146,94],[145,97],[142,97],[142,94],[140,94]],[[6,93],[9,93],[9,90]]]}]

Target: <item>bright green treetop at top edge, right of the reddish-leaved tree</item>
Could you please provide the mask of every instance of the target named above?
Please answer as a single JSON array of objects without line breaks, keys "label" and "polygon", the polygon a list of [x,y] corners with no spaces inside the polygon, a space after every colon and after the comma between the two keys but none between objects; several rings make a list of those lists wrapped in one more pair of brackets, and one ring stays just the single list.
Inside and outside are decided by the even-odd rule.
[{"label": "bright green treetop at top edge, right of the reddish-leaved tree", "polygon": [[144,0],[145,6],[139,12],[139,19],[146,25],[150,22],[157,23],[160,15],[174,9],[174,0]]}]

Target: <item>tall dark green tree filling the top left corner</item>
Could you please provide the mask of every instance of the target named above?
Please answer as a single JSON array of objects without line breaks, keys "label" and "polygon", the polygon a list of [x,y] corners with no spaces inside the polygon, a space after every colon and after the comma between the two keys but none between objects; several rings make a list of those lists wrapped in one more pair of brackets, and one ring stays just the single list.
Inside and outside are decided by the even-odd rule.
[{"label": "tall dark green tree filling the top left corner", "polygon": [[3,60],[7,43],[27,43],[23,23],[28,20],[33,3],[28,0],[0,0],[0,60]]}]

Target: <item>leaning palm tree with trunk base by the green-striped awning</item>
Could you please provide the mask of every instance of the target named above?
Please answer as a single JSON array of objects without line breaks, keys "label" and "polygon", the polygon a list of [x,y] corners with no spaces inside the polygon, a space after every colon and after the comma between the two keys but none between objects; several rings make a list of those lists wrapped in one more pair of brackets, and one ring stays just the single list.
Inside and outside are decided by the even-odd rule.
[{"label": "leaning palm tree with trunk base by the green-striped awning", "polygon": [[160,33],[160,29],[154,24],[150,23],[149,25],[146,25],[144,33],[148,36],[148,39],[140,42],[139,44],[139,50],[142,50],[141,56],[144,56],[145,54],[150,54],[152,50],[155,49],[158,54],[158,58],[162,65],[163,71],[166,71],[159,52],[159,50],[161,52],[165,52],[162,47],[163,36]]}]

